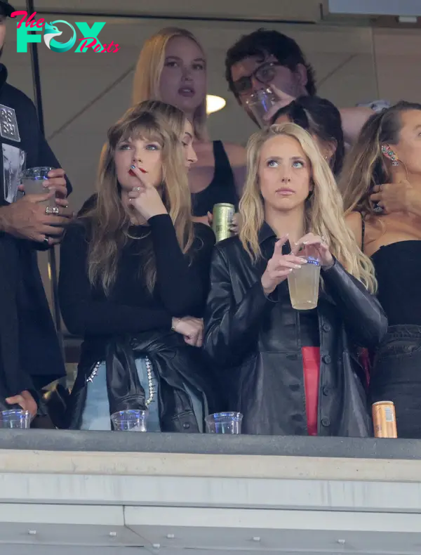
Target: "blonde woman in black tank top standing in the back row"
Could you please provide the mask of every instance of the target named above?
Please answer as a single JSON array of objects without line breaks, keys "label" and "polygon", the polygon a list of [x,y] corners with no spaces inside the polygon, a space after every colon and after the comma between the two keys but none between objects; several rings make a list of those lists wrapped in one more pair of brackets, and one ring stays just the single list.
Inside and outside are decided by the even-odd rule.
[{"label": "blonde woman in black tank top standing in the back row", "polygon": [[189,31],[168,27],[145,42],[135,72],[133,103],[150,98],[177,106],[194,126],[198,161],[189,173],[189,187],[195,219],[208,223],[208,212],[218,202],[237,207],[245,177],[245,150],[208,139],[206,56]]}]

